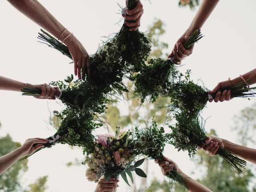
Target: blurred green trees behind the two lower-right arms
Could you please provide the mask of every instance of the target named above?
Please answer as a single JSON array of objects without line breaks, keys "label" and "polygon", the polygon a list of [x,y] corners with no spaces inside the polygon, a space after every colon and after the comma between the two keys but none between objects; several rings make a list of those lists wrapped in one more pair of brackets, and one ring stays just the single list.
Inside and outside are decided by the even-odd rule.
[{"label": "blurred green trees behind the two lower-right arms", "polygon": [[[216,135],[214,130],[211,130],[208,135]],[[211,157],[207,155],[203,150],[197,152],[197,156],[194,159],[196,167],[205,167],[206,173],[202,179],[197,181],[207,186],[212,191],[220,192],[249,192],[250,181],[254,178],[254,174],[250,170],[243,170],[240,174],[237,170],[232,170],[230,165],[223,160],[220,156]],[[153,180],[151,186],[146,192],[152,192],[162,189],[162,192],[169,192],[167,188],[169,185],[166,181],[160,183],[156,179]],[[180,185],[173,186],[175,192],[184,192]],[[255,189],[254,189],[255,190]]]}]

